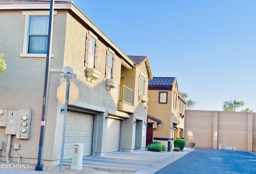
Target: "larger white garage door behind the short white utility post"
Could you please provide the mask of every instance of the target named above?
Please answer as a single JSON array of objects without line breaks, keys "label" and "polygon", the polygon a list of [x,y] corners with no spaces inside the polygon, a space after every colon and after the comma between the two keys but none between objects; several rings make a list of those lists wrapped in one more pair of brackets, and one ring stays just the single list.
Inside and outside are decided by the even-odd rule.
[{"label": "larger white garage door behind the short white utility post", "polygon": [[79,112],[67,112],[63,159],[72,158],[74,143],[84,144],[83,156],[92,151],[93,115]]}]

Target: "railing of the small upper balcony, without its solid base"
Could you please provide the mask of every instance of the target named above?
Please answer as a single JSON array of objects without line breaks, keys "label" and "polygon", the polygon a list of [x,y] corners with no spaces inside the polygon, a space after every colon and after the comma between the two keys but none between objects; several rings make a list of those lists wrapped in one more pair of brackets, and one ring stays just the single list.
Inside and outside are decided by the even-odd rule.
[{"label": "railing of the small upper balcony, without its solid base", "polygon": [[119,86],[119,102],[124,102],[134,106],[134,90],[124,84]]}]

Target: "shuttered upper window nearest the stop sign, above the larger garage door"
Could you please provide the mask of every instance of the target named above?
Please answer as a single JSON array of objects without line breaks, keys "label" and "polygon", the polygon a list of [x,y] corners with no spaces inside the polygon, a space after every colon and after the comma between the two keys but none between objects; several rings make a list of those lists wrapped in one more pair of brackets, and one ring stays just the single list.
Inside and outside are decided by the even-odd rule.
[{"label": "shuttered upper window nearest the stop sign, above the larger garage door", "polygon": [[97,39],[92,32],[86,33],[86,46],[85,46],[85,58],[84,66],[87,68],[97,69],[97,56],[98,56],[98,44]]}]

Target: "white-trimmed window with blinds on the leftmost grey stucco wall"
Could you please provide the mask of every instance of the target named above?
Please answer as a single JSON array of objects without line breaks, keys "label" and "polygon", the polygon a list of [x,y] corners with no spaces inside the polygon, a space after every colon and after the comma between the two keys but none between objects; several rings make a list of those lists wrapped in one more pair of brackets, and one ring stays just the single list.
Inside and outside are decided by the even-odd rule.
[{"label": "white-trimmed window with blinds on the leftmost grey stucco wall", "polygon": [[[23,50],[20,57],[46,57],[49,13],[49,11],[22,12],[25,16],[25,27]],[[54,15],[57,15],[57,11],[54,11]]]}]

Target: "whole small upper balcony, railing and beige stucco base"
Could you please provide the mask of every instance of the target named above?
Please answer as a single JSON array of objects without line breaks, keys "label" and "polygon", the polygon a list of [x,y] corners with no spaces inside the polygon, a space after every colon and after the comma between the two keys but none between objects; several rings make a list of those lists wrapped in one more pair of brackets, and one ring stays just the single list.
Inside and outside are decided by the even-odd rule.
[{"label": "whole small upper balcony, railing and beige stucco base", "polygon": [[134,90],[124,84],[119,86],[118,110],[129,113],[134,112]]}]

